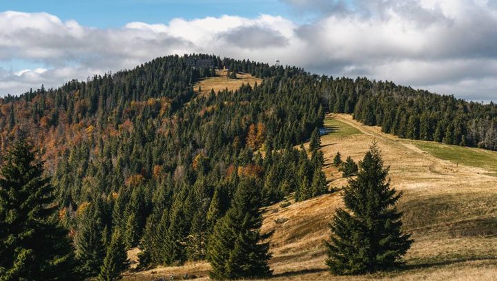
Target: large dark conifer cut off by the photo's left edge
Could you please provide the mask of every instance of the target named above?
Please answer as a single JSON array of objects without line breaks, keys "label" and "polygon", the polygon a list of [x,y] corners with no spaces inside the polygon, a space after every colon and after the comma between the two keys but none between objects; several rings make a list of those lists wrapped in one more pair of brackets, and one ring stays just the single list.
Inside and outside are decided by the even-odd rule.
[{"label": "large dark conifer cut off by the photo's left edge", "polygon": [[14,143],[0,169],[0,280],[78,280],[50,180],[32,149]]}]

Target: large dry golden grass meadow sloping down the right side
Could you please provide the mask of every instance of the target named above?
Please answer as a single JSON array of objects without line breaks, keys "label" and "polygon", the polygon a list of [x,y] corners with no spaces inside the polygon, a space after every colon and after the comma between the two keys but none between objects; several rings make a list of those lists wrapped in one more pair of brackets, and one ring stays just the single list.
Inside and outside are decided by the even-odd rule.
[{"label": "large dry golden grass meadow sloping down the right side", "polygon": [[[405,231],[415,240],[400,271],[361,276],[333,276],[327,272],[323,240],[335,208],[342,206],[340,191],[287,207],[267,207],[262,231],[273,231],[271,280],[497,280],[497,178],[487,169],[456,165],[422,151],[413,141],[367,127],[350,115],[335,114],[340,132],[322,136],[325,172],[329,186],[347,185],[331,164],[336,152],[360,160],[371,143],[382,150],[390,166],[391,186],[404,193],[398,208],[404,212]],[[497,156],[497,153],[496,153]],[[156,269],[206,279],[208,264]],[[153,280],[137,273],[126,280]],[[136,279],[144,278],[144,279]],[[149,278],[149,279],[147,279]]]}]

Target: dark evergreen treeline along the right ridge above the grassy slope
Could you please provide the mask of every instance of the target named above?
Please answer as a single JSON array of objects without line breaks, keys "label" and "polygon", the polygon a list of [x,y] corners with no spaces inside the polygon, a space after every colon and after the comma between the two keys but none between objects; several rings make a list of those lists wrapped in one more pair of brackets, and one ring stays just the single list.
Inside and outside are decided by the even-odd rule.
[{"label": "dark evergreen treeline along the right ridge above the grassy slope", "polygon": [[352,113],[366,125],[401,138],[497,149],[497,106],[367,79],[326,79],[331,112]]}]

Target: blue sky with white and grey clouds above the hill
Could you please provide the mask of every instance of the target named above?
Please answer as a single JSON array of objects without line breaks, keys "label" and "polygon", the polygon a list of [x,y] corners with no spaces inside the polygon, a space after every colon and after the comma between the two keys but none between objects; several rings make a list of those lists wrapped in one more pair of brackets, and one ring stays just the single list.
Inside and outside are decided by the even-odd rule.
[{"label": "blue sky with white and grey clouds above the hill", "polygon": [[193,52],[497,101],[497,0],[0,0],[0,96]]}]

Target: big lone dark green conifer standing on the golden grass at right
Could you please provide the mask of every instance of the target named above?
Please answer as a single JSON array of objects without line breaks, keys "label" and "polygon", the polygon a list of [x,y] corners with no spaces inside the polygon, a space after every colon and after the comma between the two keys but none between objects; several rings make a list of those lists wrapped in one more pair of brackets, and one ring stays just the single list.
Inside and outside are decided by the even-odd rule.
[{"label": "big lone dark green conifer standing on the golden grass at right", "polygon": [[412,240],[401,231],[402,213],[395,205],[402,193],[390,188],[388,171],[378,147],[371,146],[358,177],[344,189],[347,209],[338,209],[330,225],[327,265],[332,273],[370,273],[403,264]]}]

